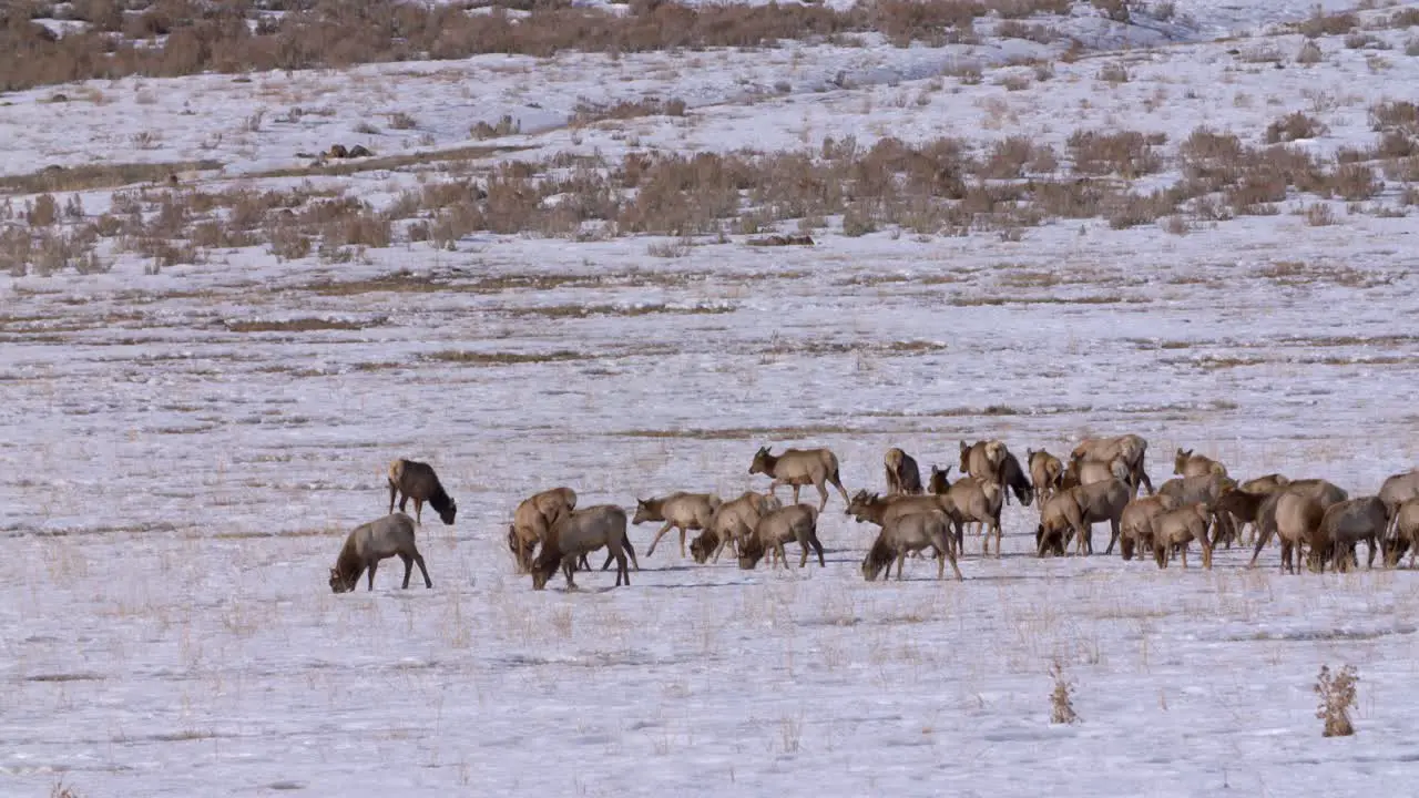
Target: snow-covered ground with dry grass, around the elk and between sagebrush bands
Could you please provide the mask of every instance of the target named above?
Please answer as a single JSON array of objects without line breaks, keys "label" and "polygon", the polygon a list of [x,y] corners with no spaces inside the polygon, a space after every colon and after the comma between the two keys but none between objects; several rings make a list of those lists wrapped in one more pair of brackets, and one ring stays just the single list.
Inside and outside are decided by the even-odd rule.
[{"label": "snow-covered ground with dry grass, around the elk and between sagebrush bands", "polygon": [[[646,65],[668,55],[644,55],[626,97],[705,111],[573,129],[578,98],[612,92],[637,61],[568,55],[538,75],[545,129],[504,143],[548,155],[965,135],[944,119],[972,138],[1057,143],[1112,119],[1169,131],[1175,148],[1203,121],[1256,141],[1304,109],[1330,126],[1307,146],[1330,153],[1371,141],[1368,105],[1419,78],[1402,30],[1378,33],[1398,47],[1382,68],[1327,38],[1307,70],[1227,68],[1229,48],[1290,61],[1300,37],[1260,31],[1308,6],[1178,11],[1199,31],[1189,41],[1060,62],[1026,91],[988,74],[925,105],[887,98],[915,98],[956,54],[704,53],[678,82]],[[1247,35],[1203,41],[1222,31]],[[802,75],[783,78],[799,50]],[[816,91],[843,53],[897,77]],[[1108,58],[1134,77],[1097,89]],[[108,101],[94,104],[7,95],[3,169],[217,158],[226,173],[190,179],[233,180],[355,142],[294,122],[236,141],[257,109],[308,102],[277,105],[261,87],[339,84],[342,111],[316,118],[348,131],[362,85],[414,87],[412,71],[461,77],[365,102],[420,119],[434,145],[410,148],[463,145],[470,124],[511,112],[512,78],[463,109],[440,109],[437,92],[487,61],[356,70],[369,81],[125,80],[95,84]],[[505,61],[532,80],[534,60]],[[800,78],[802,92],[736,94]],[[1145,108],[1158,87],[1168,102]],[[35,116],[51,112],[65,116]],[[162,143],[123,149],[143,129]],[[377,197],[416,179],[342,185]],[[890,446],[925,471],[955,464],[961,440],[1064,454],[1134,432],[1155,484],[1182,446],[1240,477],[1375,493],[1419,464],[1415,226],[1337,202],[1337,223],[1313,227],[1294,204],[1185,236],[1098,220],[1019,241],[815,231],[815,247],[732,239],[674,258],[646,239],[477,236],[346,264],[254,248],[160,274],[122,260],[101,275],[0,277],[0,795],[47,795],[60,778],[82,798],[1402,795],[1419,761],[1408,569],[1281,576],[1276,548],[1256,569],[1250,551],[1219,551],[1210,572],[1036,559],[1036,508],[1012,504],[1005,557],[982,558],[968,535],[964,582],[912,561],[905,581],[867,584],[874,528],[836,494],[822,569],[695,565],[668,535],[646,557],[654,528],[641,525],[630,588],[593,572],[580,591],[534,592],[504,544],[515,504],[558,484],[629,511],[671,490],[763,490],[748,474],[763,444],[832,447],[856,491],[881,490]],[[453,527],[426,507],[434,588],[416,575],[400,591],[396,559],[373,592],[332,595],[343,537],[385,513],[400,456],[430,461],[458,501]],[[1049,723],[1053,663],[1076,686],[1078,724]],[[1361,676],[1358,734],[1323,738],[1311,687],[1321,665],[1344,663]]]}]

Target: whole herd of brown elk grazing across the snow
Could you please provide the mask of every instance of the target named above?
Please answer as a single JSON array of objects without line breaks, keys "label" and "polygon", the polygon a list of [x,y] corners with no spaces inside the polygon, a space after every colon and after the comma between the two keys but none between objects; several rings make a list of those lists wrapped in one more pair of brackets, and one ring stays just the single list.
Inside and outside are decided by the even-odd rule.
[{"label": "whole herd of brown elk grazing across the snow", "polygon": [[[861,562],[868,581],[877,579],[883,569],[890,576],[893,562],[901,579],[905,559],[925,550],[935,552],[938,578],[945,576],[949,561],[961,579],[958,557],[964,555],[968,524],[975,524],[981,534],[982,555],[990,554],[993,537],[995,555],[1000,557],[1000,515],[1010,494],[1022,507],[1037,507],[1036,557],[1063,557],[1071,545],[1077,555],[1093,554],[1093,525],[1105,521],[1110,525],[1105,555],[1117,544],[1125,561],[1142,555],[1158,568],[1166,568],[1174,555],[1181,555],[1186,568],[1192,542],[1202,550],[1203,568],[1212,568],[1216,547],[1246,544],[1247,531],[1254,537],[1249,567],[1256,565],[1261,550],[1276,537],[1283,572],[1296,572],[1303,558],[1313,571],[1324,571],[1327,565],[1337,571],[1358,567],[1361,542],[1366,545],[1368,567],[1374,567],[1376,554],[1386,568],[1395,567],[1408,551],[1413,568],[1419,555],[1419,469],[1391,476],[1375,496],[1352,498],[1323,479],[1264,474],[1239,483],[1223,463],[1178,449],[1175,477],[1154,490],[1145,470],[1147,452],[1148,442],[1137,434],[1086,439],[1067,460],[1030,449],[1022,466],[1000,440],[962,440],[959,479],[951,480],[952,466],[932,464],[929,480],[922,484],[917,460],[893,447],[883,460],[885,494],[858,490],[849,496],[832,450],[786,449],[772,454],[769,447],[761,447],[749,474],[768,476],[772,480],[768,491],[745,491],[729,501],[714,493],[688,491],[637,498],[630,523],[661,524],[647,555],[654,554],[664,535],[678,531],[680,555],[685,557],[685,538],[698,531],[688,542],[698,564],[718,561],[729,548],[741,568],[755,568],[765,555],[771,565],[782,561],[788,568],[783,545],[796,542],[799,568],[807,565],[810,554],[817,555],[819,567],[826,567],[817,527],[827,507],[827,486],[833,486],[847,503],[847,515],[880,528]],[[387,483],[389,514],[348,535],[331,568],[335,592],[355,589],[365,572],[368,589],[373,589],[379,561],[396,555],[404,562],[404,588],[416,564],[426,586],[433,585],[414,545],[414,530],[421,524],[426,501],[444,524],[454,523],[457,503],[427,463],[397,459],[389,466]],[[793,488],[792,504],[775,496],[779,486]],[[816,507],[799,503],[799,491],[806,486],[817,488]],[[1141,488],[1147,496],[1139,496]],[[413,518],[404,514],[409,500],[414,501]],[[630,585],[629,565],[640,571],[627,535],[626,511],[613,504],[578,508],[570,487],[548,488],[518,503],[507,542],[518,572],[532,576],[534,589],[543,589],[559,568],[568,586],[575,588],[573,572],[589,571],[587,555],[602,548],[607,551],[602,571],[616,562],[617,586]]]}]

